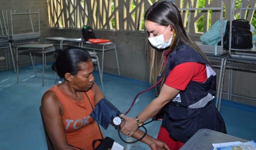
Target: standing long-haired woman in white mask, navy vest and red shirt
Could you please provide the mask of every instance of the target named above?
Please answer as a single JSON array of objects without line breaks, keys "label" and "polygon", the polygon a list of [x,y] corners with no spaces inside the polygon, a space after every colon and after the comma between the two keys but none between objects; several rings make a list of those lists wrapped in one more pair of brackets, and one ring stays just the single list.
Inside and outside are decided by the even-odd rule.
[{"label": "standing long-haired woman in white mask, navy vest and red shirt", "polygon": [[177,7],[169,1],[154,3],[145,13],[148,32],[150,81],[158,96],[135,118],[126,120],[121,132],[132,136],[152,117],[163,115],[158,139],[171,150],[179,149],[199,129],[226,133],[224,120],[212,103],[216,73],[202,50],[183,27]]}]

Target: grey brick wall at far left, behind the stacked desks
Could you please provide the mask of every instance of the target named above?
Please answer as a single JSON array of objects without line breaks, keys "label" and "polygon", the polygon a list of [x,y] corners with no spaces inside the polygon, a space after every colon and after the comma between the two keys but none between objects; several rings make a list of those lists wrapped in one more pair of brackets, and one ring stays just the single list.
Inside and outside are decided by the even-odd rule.
[{"label": "grey brick wall at far left, behind the stacked desks", "polygon": [[[11,23],[10,23],[10,10],[12,13],[23,13],[28,12],[37,12],[38,9],[40,11],[40,42],[44,43],[44,38],[49,37],[49,19],[48,19],[48,8],[46,0],[0,0],[0,10],[7,10],[8,12],[8,24],[9,31],[11,33]],[[1,21],[2,21],[2,12],[1,12]],[[31,15],[34,31],[38,31],[38,17],[37,15]],[[29,15],[13,15],[13,29],[14,34],[24,33],[24,32],[32,32],[31,23]],[[0,49],[0,55],[5,56],[5,50]],[[27,62],[29,61],[28,55],[19,56],[19,62]],[[41,62],[41,57],[36,57],[36,63]],[[12,64],[12,63],[11,63]],[[21,64],[21,66],[29,65],[30,63]],[[5,66],[6,61],[0,61],[0,67]],[[0,70],[6,69],[5,67],[1,67]]]}]

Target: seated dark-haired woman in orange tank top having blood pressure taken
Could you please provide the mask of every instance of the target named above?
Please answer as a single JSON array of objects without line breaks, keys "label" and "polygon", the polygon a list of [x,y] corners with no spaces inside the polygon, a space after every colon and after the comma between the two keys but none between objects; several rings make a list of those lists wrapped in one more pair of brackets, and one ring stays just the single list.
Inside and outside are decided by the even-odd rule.
[{"label": "seated dark-haired woman in orange tank top having blood pressure taken", "polygon": [[[46,91],[41,104],[45,128],[53,147],[58,150],[92,150],[93,140],[102,139],[102,135],[90,114],[104,95],[94,83],[91,57],[82,49],[68,48],[56,57],[53,68],[64,82]],[[137,130],[133,137],[139,139],[143,134]],[[141,141],[154,150],[169,149],[164,142],[149,135]]]}]

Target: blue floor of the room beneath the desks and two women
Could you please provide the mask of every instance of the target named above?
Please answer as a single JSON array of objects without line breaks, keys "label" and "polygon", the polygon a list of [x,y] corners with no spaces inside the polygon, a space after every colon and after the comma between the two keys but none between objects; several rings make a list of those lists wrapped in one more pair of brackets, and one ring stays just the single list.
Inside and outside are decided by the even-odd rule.
[{"label": "blue floor of the room beneath the desks and two women", "polygon": [[[41,65],[36,65],[41,69]],[[51,64],[46,70],[51,71]],[[0,150],[46,150],[47,144],[39,113],[41,97],[54,85],[54,75],[45,74],[45,86],[42,86],[41,73],[33,74],[32,66],[20,68],[20,83],[11,70],[0,72]],[[100,86],[99,74],[94,72],[95,82]],[[129,107],[134,96],[149,87],[145,82],[127,79],[116,75],[103,75],[106,98],[122,112]],[[128,116],[136,116],[154,98],[154,90],[140,95]],[[256,108],[240,103],[222,101],[221,114],[225,120],[227,132],[247,140],[256,141]],[[146,125],[148,134],[156,137],[161,122]],[[147,150],[149,147],[141,142],[123,143],[117,131],[110,126],[103,129],[105,136],[112,137],[127,150]],[[126,140],[132,140],[126,138]]]}]

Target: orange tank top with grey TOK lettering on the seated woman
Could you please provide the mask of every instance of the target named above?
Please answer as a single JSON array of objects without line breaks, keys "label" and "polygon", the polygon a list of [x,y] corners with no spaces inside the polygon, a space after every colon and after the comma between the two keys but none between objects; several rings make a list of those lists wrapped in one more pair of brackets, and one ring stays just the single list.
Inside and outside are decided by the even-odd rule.
[{"label": "orange tank top with grey TOK lettering on the seated woman", "polygon": [[[102,137],[98,125],[90,116],[93,110],[92,106],[93,108],[95,107],[92,90],[86,92],[92,106],[85,93],[83,93],[83,99],[78,102],[69,98],[57,85],[49,90],[55,93],[64,110],[62,121],[68,144],[85,150],[93,150],[92,141]],[[98,146],[97,144],[95,145],[96,147]]]}]

